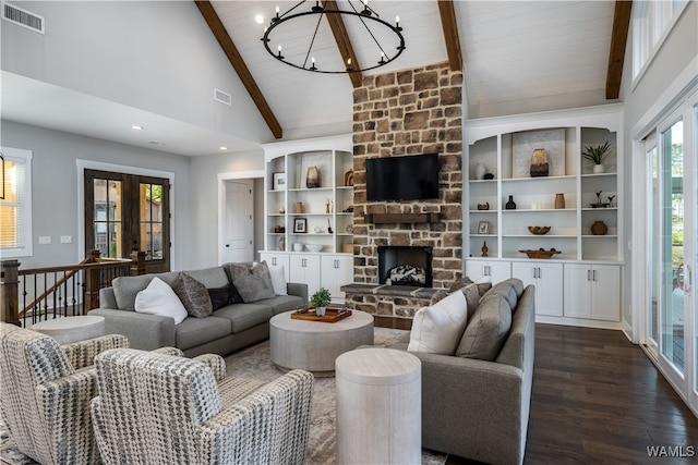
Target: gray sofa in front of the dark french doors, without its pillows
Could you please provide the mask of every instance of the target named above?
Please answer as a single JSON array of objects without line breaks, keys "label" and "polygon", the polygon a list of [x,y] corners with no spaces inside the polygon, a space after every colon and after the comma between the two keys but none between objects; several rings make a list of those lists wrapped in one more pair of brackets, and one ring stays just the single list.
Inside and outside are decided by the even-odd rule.
[{"label": "gray sofa in front of the dark french doors, without its pillows", "polygon": [[[184,271],[206,289],[231,284],[230,264],[201,270]],[[167,316],[136,313],[134,304],[140,291],[154,277],[172,285],[180,272],[121,277],[110,287],[99,292],[99,308],[91,315],[105,317],[105,332],[123,334],[132,348],[154,350],[173,346],[188,357],[215,353],[226,355],[269,336],[269,319],[277,314],[297,309],[308,303],[308,285],[287,283],[288,295],[275,295],[250,303],[224,305],[205,318],[189,316],[174,325]]]}]

